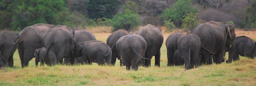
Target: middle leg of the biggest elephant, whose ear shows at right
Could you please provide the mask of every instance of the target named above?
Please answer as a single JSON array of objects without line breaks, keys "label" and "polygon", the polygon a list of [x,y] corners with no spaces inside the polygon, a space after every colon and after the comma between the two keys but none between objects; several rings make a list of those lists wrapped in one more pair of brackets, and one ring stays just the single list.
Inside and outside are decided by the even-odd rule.
[{"label": "middle leg of the biggest elephant, whose ear shows at right", "polygon": [[221,64],[223,57],[225,56],[225,46],[223,46],[222,48],[220,48],[220,50],[215,54],[215,59],[216,59],[216,64]]}]

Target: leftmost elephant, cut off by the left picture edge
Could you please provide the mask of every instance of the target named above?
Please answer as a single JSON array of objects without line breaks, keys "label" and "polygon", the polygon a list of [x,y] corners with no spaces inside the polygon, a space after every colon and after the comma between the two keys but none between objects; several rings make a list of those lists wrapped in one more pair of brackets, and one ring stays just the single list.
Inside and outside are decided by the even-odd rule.
[{"label": "leftmost elephant, cut off by the left picture edge", "polygon": [[0,68],[4,69],[6,66],[13,67],[13,54],[17,49],[13,45],[17,35],[11,31],[0,32]]}]

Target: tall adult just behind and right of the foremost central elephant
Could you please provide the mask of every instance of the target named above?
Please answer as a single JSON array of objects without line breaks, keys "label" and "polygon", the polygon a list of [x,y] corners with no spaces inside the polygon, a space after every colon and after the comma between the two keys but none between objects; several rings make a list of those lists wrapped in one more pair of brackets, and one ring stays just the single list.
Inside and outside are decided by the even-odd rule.
[{"label": "tall adult just behind and right of the foremost central elephant", "polygon": [[[160,48],[164,42],[164,36],[159,27],[148,24],[136,32],[137,35],[142,36],[147,42],[147,49],[145,58],[151,59],[155,55],[155,66],[160,67]],[[145,67],[151,65],[151,60],[142,59],[140,61]]]}]

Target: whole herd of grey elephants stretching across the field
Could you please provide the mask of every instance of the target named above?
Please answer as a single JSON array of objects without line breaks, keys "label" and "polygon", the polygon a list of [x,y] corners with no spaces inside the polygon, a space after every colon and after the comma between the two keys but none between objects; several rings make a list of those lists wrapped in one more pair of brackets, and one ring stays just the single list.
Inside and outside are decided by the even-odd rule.
[{"label": "whole herd of grey elephants stretching across the field", "polygon": [[[18,48],[21,66],[27,67],[32,58],[36,66],[56,64],[115,65],[127,70],[138,70],[139,65],[149,67],[155,56],[155,66],[160,66],[160,48],[164,41],[161,29],[148,24],[136,33],[120,29],[113,32],[107,43],[83,29],[65,25],[35,24],[24,28],[20,34],[0,32],[0,67],[13,66],[13,54]],[[184,65],[186,69],[202,64],[220,64],[239,60],[240,56],[254,59],[256,42],[246,36],[236,37],[234,25],[209,21],[197,25],[191,32],[172,33],[166,39],[167,66]]]}]

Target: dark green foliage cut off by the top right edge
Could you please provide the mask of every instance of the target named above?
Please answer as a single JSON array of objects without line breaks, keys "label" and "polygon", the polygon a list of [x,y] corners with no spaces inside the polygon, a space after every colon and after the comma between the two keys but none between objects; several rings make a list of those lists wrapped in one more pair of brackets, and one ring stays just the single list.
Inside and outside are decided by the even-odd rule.
[{"label": "dark green foliage cut off by the top right edge", "polygon": [[256,0],[251,2],[251,5],[247,8],[245,12],[244,21],[247,26],[255,27],[256,22]]}]

